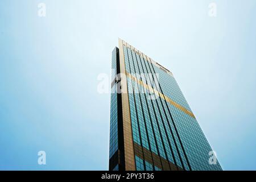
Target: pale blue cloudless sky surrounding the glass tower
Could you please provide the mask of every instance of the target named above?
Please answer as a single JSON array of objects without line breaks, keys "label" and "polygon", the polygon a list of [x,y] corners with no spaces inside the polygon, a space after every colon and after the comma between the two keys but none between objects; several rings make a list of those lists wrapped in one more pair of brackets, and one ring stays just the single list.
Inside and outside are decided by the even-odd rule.
[{"label": "pale blue cloudless sky surrounding the glass tower", "polygon": [[256,169],[255,17],[254,0],[1,0],[0,169],[108,169],[97,76],[118,37],[174,73],[224,169]]}]

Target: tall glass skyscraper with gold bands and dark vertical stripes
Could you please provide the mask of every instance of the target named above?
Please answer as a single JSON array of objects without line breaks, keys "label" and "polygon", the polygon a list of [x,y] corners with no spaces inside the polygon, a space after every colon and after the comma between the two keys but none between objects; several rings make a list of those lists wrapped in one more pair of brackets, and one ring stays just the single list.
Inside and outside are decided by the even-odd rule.
[{"label": "tall glass skyscraper with gold bands and dark vertical stripes", "polygon": [[109,170],[222,170],[172,73],[121,39],[111,87]]}]

